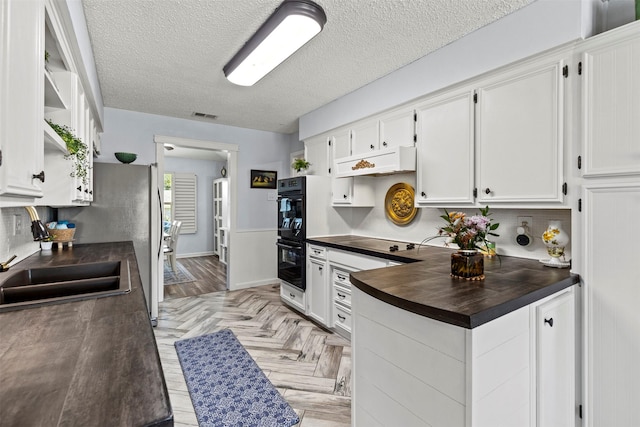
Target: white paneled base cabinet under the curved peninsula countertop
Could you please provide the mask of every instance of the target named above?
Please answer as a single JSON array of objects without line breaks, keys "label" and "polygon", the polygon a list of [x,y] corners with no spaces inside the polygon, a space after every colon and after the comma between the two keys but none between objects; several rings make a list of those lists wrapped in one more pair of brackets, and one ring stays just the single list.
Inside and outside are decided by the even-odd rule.
[{"label": "white paneled base cabinet under the curved peninsula countertop", "polygon": [[574,425],[573,288],[473,329],[352,300],[352,425]]}]

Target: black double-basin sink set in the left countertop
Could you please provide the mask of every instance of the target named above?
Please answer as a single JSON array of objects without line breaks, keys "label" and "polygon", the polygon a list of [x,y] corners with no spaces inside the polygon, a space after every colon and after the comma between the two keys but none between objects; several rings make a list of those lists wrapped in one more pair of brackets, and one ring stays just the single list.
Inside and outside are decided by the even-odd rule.
[{"label": "black double-basin sink set in the left countertop", "polygon": [[59,304],[131,291],[128,261],[16,270],[0,277],[0,311]]}]

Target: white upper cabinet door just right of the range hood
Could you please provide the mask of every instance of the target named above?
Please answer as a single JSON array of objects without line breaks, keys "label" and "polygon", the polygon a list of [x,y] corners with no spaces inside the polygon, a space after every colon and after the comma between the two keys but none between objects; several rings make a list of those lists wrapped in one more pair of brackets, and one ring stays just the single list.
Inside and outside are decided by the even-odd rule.
[{"label": "white upper cabinet door just right of the range hood", "polygon": [[473,90],[431,98],[416,114],[416,204],[473,203]]}]

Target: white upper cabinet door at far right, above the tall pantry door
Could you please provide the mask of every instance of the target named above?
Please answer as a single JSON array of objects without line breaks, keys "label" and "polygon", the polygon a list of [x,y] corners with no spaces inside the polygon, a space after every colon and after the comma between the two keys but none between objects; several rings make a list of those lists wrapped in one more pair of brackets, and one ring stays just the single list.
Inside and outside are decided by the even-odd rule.
[{"label": "white upper cabinet door at far right, above the tall pantry door", "polygon": [[583,176],[640,174],[640,26],[581,50]]}]

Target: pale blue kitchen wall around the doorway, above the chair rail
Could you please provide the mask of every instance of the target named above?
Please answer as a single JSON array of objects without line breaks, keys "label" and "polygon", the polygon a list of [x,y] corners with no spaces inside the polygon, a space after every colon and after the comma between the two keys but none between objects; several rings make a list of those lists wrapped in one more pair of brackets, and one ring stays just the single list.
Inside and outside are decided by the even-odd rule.
[{"label": "pale blue kitchen wall around the doorway, above the chair rail", "polygon": [[239,230],[275,230],[276,202],[267,200],[268,193],[275,190],[249,188],[250,170],[275,170],[279,177],[288,176],[289,135],[105,108],[102,154],[96,161],[115,163],[117,160],[113,153],[126,151],[138,154],[137,164],[153,163],[156,148],[154,135],[237,144],[236,227]]}]

